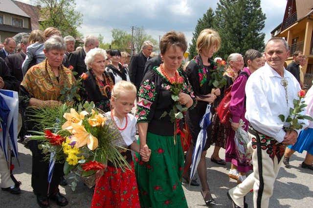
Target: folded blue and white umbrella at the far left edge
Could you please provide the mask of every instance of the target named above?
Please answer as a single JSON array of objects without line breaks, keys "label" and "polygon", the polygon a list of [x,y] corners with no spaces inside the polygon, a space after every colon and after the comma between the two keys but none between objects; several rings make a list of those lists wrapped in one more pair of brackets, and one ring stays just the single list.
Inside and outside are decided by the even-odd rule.
[{"label": "folded blue and white umbrella at the far left edge", "polygon": [[5,160],[9,168],[8,146],[12,148],[14,156],[17,158],[18,164],[18,113],[19,99],[18,93],[11,90],[0,90],[0,117],[2,119],[2,132],[0,135],[0,146],[4,153]]}]

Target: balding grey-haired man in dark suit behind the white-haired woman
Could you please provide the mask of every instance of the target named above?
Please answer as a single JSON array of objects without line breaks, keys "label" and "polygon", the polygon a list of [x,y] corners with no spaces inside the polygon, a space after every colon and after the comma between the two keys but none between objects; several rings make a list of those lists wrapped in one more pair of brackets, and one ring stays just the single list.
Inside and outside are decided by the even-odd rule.
[{"label": "balding grey-haired man in dark suit behind the white-haired woman", "polygon": [[73,66],[73,71],[76,71],[77,74],[74,75],[76,80],[84,72],[87,72],[87,66],[85,64],[85,57],[89,50],[99,47],[99,40],[93,35],[86,37],[84,48],[78,51],[73,51],[68,54],[69,64]]}]

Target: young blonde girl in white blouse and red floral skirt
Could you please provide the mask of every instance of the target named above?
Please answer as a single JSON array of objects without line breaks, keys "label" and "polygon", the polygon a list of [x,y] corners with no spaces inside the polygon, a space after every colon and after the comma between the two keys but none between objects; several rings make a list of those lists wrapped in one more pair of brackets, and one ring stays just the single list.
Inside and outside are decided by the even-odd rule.
[{"label": "young blonde girl in white blouse and red floral skirt", "polygon": [[[112,89],[111,106],[112,111],[105,113],[108,119],[120,130],[124,139],[124,146],[127,149],[121,150],[121,155],[130,164],[132,169],[123,171],[115,167],[111,162],[105,168],[104,174],[96,183],[91,207],[106,208],[140,208],[138,189],[134,174],[134,162],[131,150],[140,153],[144,162],[149,161],[151,149],[140,150],[136,140],[137,119],[130,114],[136,98],[136,87],[134,84],[126,81],[118,82]],[[140,152],[139,152],[140,151]]]}]

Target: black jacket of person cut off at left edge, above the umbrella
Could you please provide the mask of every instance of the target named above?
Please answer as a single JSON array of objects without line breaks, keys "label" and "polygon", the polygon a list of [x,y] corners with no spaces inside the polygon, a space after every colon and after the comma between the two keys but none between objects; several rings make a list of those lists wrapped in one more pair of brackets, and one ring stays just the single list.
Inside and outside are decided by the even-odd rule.
[{"label": "black jacket of person cut off at left edge, above the umbrella", "polygon": [[18,91],[19,85],[15,77],[11,76],[9,67],[5,64],[4,60],[0,58],[0,77],[4,81],[2,89]]}]

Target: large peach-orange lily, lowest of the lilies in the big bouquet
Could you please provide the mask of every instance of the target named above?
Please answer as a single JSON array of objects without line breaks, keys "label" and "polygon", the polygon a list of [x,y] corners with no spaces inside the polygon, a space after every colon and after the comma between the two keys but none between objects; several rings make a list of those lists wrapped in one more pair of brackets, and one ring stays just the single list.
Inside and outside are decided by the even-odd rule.
[{"label": "large peach-orange lily, lowest of the lilies in the big bouquet", "polygon": [[87,144],[89,149],[94,150],[98,146],[98,139],[87,132],[84,126],[73,123],[72,127],[77,133],[72,136],[71,141],[76,141],[77,148]]}]

